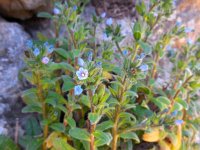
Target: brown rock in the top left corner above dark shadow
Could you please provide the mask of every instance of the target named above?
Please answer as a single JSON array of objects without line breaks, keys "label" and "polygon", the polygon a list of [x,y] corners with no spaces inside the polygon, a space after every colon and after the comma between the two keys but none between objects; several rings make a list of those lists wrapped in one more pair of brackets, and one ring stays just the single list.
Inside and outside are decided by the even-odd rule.
[{"label": "brown rock in the top left corner above dark shadow", "polygon": [[46,0],[0,0],[0,14],[22,20],[48,8],[49,2]]}]

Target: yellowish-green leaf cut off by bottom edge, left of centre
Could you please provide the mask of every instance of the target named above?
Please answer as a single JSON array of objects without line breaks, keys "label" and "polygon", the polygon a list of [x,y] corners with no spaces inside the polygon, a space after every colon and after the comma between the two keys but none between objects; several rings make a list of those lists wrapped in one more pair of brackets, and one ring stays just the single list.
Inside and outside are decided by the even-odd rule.
[{"label": "yellowish-green leaf cut off by bottom edge, left of centre", "polygon": [[56,138],[53,140],[53,147],[56,150],[75,150],[75,148],[69,145],[67,141],[62,138]]}]

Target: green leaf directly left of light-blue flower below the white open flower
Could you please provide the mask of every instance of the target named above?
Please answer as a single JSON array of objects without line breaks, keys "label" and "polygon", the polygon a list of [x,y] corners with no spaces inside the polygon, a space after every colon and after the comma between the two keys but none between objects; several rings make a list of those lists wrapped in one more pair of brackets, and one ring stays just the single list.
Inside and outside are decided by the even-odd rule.
[{"label": "green leaf directly left of light-blue flower below the white open flower", "polygon": [[71,77],[65,75],[65,76],[62,76],[62,78],[64,81],[63,86],[62,86],[62,92],[67,92],[74,88],[75,84]]}]

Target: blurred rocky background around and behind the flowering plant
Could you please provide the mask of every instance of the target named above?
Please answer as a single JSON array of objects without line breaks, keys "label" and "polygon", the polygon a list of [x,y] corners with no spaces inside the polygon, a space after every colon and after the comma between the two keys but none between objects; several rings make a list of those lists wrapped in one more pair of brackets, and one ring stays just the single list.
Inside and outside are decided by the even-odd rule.
[{"label": "blurred rocky background around and behind the flowering plant", "polygon": [[[83,17],[90,20],[92,13],[106,12],[107,17],[114,18],[116,23],[122,25],[123,33],[129,35],[130,24],[136,17],[134,6],[135,0],[91,0]],[[20,134],[23,134],[22,128],[27,118],[21,113],[23,102],[20,98],[21,91],[26,88],[19,79],[19,71],[23,68],[23,51],[26,49],[25,42],[36,38],[37,32],[54,36],[50,21],[36,17],[40,11],[51,12],[50,8],[50,0],[0,0],[0,134],[13,136],[17,118]],[[200,0],[179,0],[166,24],[182,21],[195,29],[188,35],[194,40],[200,33],[199,13]],[[157,31],[162,32],[163,29]],[[101,38],[101,28],[98,33]],[[129,42],[127,37],[121,44]],[[177,40],[176,47],[184,42],[184,39]]]}]

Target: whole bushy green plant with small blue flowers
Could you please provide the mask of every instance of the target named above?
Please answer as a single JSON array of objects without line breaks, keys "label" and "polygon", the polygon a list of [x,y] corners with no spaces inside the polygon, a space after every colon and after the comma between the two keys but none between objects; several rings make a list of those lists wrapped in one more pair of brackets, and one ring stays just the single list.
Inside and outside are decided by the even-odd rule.
[{"label": "whole bushy green plant with small blue flowers", "polygon": [[[185,34],[179,25],[151,41],[156,25],[172,12],[171,0],[152,0],[150,9],[145,3],[136,9],[140,17],[126,47],[120,46],[120,25],[105,20],[106,14],[94,15],[92,24],[84,22],[78,0],[55,3],[54,15],[38,15],[52,19],[56,36],[39,34],[39,40],[28,42],[24,58],[22,74],[33,86],[22,95],[27,104],[22,111],[38,114],[40,124],[31,119],[26,133],[37,143],[35,149],[132,149],[141,139],[179,149],[182,140],[186,146],[193,141],[199,125],[199,116],[190,117],[200,87],[199,41],[170,49]],[[103,21],[99,44],[96,31]],[[164,69],[158,64],[167,56],[173,63],[171,79],[160,86],[158,74]],[[193,136],[185,138],[182,131],[191,128]],[[22,138],[21,143],[28,142]]]}]

